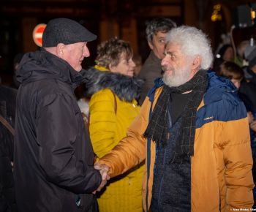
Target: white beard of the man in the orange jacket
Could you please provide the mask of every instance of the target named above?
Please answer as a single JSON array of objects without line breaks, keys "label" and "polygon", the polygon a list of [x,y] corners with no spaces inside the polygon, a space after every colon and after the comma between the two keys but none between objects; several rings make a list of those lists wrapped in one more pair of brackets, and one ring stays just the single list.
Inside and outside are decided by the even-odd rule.
[{"label": "white beard of the man in the orange jacket", "polygon": [[[165,71],[169,69],[169,67],[162,67],[162,69]],[[178,69],[171,69],[171,75],[168,72],[165,72],[162,80],[164,81],[165,85],[169,87],[178,87],[183,85],[184,83],[187,83],[189,80],[189,77],[191,75],[191,70],[189,69],[189,65],[187,67],[181,67]]]}]

